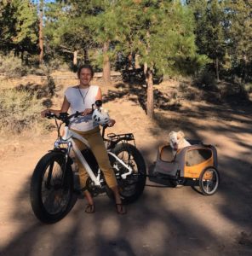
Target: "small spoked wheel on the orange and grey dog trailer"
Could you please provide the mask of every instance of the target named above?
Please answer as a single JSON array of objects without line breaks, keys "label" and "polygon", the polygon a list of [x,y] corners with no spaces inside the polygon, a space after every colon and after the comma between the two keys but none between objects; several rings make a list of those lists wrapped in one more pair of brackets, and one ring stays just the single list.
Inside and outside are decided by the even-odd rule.
[{"label": "small spoked wheel on the orange and grey dog trailer", "polygon": [[201,178],[201,188],[207,195],[214,194],[219,185],[219,175],[214,168],[209,168],[203,172]]}]

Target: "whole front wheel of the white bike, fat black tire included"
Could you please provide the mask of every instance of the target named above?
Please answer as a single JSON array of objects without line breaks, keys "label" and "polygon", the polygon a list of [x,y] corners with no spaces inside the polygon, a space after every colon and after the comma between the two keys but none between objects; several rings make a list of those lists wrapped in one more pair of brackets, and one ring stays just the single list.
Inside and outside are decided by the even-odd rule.
[{"label": "whole front wheel of the white bike, fat black tire included", "polygon": [[31,177],[31,207],[36,217],[47,224],[64,218],[74,205],[72,192],[72,167],[65,164],[64,154],[45,154]]}]

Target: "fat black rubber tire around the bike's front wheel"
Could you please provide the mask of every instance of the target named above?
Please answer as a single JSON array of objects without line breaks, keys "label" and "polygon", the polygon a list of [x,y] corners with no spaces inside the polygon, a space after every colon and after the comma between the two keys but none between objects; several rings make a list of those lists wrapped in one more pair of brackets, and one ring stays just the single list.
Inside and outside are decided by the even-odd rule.
[{"label": "fat black rubber tire around the bike's front wheel", "polygon": [[[66,201],[66,206],[62,211],[51,213],[43,205],[42,199],[42,188],[43,188],[43,177],[50,163],[57,162],[62,165],[65,161],[65,156],[61,152],[49,152],[45,154],[41,160],[37,163],[34,172],[31,177],[31,189],[30,189],[30,200],[31,208],[35,216],[46,224],[53,224],[64,218],[68,212],[71,211],[72,207],[76,202],[76,197],[73,196],[73,174],[72,167],[69,162],[66,164],[66,182],[69,196]],[[62,169],[60,168],[60,171]],[[64,192],[63,192],[64,193]]]}]

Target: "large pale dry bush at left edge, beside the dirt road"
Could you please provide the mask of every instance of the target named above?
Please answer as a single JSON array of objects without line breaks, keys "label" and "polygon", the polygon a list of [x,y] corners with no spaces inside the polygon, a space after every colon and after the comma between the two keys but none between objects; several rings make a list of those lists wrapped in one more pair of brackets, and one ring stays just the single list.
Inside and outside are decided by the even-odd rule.
[{"label": "large pale dry bush at left edge, beside the dirt road", "polygon": [[40,134],[49,128],[49,120],[43,119],[40,112],[42,101],[25,90],[0,90],[0,133],[20,134],[31,130]]}]

